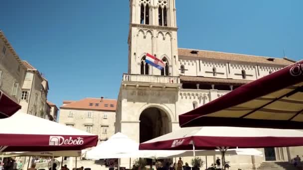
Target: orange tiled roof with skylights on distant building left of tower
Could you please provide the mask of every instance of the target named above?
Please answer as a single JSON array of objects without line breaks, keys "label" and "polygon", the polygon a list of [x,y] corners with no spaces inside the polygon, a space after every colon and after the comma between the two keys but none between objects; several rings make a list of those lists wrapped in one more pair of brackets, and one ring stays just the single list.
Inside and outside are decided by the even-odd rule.
[{"label": "orange tiled roof with skylights on distant building left of tower", "polygon": [[116,106],[117,100],[115,99],[103,99],[101,102],[100,98],[84,98],[65,104],[60,108],[116,111]]}]

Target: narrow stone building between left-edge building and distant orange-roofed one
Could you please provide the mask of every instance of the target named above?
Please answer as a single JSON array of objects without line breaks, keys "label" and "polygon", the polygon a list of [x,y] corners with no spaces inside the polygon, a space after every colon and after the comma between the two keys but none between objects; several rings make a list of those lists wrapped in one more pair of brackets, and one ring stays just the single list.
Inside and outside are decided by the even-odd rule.
[{"label": "narrow stone building between left-edge building and distant orange-roofed one", "polygon": [[26,74],[20,91],[21,111],[45,118],[48,81],[27,61],[23,61],[23,64]]}]

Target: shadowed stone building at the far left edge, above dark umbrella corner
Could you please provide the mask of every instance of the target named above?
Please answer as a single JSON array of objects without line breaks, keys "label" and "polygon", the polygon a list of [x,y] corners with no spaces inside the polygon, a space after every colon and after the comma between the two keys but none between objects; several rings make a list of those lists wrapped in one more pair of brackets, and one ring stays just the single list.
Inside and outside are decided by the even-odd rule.
[{"label": "shadowed stone building at the far left edge, above dark umbrella corner", "polygon": [[0,30],[0,90],[15,102],[21,98],[26,67]]}]

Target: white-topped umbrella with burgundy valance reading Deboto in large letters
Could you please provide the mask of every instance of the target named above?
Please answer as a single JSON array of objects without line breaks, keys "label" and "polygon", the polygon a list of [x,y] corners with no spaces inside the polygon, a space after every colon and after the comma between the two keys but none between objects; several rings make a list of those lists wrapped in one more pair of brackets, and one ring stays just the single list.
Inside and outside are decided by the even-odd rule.
[{"label": "white-topped umbrella with burgundy valance reading Deboto in large letters", "polygon": [[79,151],[98,142],[97,135],[20,111],[0,125],[0,152]]}]

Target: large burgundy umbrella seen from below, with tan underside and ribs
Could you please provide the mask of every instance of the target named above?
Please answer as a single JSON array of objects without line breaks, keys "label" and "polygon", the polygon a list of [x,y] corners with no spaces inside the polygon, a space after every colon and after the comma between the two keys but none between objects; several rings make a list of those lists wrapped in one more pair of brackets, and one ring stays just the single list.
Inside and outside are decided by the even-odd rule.
[{"label": "large burgundy umbrella seen from below, with tan underside and ribs", "polygon": [[303,61],[179,115],[179,124],[303,129]]}]

